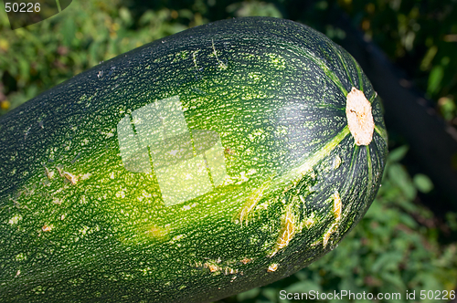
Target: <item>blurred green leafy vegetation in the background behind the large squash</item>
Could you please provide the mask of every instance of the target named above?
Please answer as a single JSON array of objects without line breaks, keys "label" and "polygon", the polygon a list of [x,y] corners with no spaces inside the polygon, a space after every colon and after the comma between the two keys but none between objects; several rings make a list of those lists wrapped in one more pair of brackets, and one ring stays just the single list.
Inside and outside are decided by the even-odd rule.
[{"label": "blurred green leafy vegetation in the background behind the large squash", "polygon": [[[274,16],[338,42],[346,33],[333,25],[335,14],[346,14],[457,126],[457,3],[430,0],[74,0],[57,16],[14,31],[1,9],[0,115],[101,61],[188,27]],[[281,289],[399,292],[406,302],[407,289],[417,300],[420,290],[457,289],[457,214],[434,214],[423,203],[435,197],[435,186],[408,164],[408,142],[393,131],[389,150],[376,201],[338,248],[291,277],[220,302],[288,302]]]}]

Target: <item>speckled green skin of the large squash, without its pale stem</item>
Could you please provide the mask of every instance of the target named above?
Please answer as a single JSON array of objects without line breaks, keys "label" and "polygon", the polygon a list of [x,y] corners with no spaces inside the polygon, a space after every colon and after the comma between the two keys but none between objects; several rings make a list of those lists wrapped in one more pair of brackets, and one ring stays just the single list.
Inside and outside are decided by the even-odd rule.
[{"label": "speckled green skin of the large squash, without its pale stem", "polygon": [[[372,102],[368,146],[347,129],[352,87]],[[218,131],[228,178],[165,207],[154,173],[123,168],[116,125],[175,95],[190,130]],[[387,154],[355,60],[307,26],[260,17],[115,57],[8,113],[0,133],[2,302],[209,302],[271,283],[356,225]],[[275,251],[288,211],[293,236]]]}]

